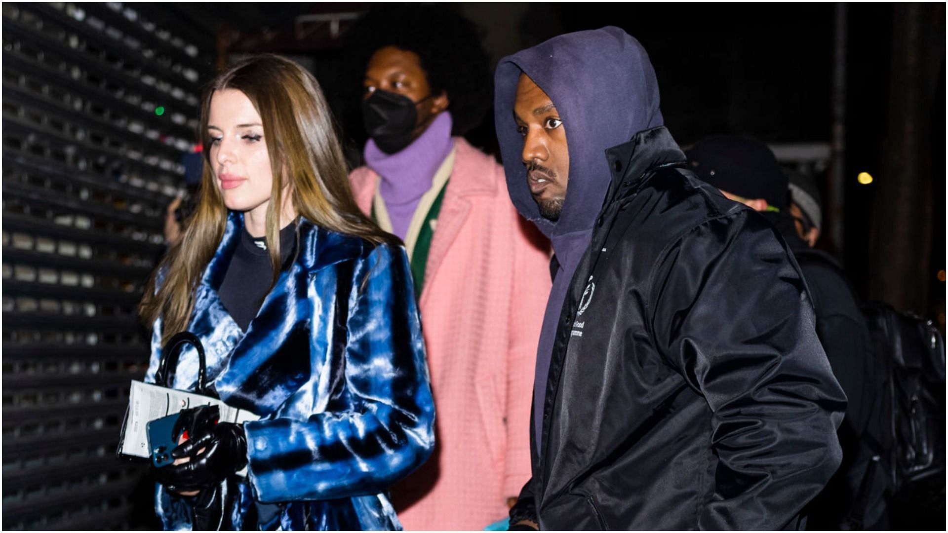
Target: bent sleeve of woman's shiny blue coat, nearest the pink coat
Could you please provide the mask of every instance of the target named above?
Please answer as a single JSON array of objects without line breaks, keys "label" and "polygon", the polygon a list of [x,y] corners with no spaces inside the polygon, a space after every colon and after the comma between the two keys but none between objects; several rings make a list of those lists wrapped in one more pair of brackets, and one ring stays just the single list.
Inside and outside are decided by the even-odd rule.
[{"label": "bent sleeve of woman's shiny blue coat, nearest the pink coat", "polygon": [[338,286],[348,313],[346,339],[333,340],[345,342],[344,357],[332,364],[344,369],[319,372],[340,376],[320,385],[333,391],[330,405],[314,405],[319,412],[307,420],[245,423],[248,479],[265,503],[384,492],[434,447],[428,364],[404,249],[374,248],[356,262],[348,290]]}]

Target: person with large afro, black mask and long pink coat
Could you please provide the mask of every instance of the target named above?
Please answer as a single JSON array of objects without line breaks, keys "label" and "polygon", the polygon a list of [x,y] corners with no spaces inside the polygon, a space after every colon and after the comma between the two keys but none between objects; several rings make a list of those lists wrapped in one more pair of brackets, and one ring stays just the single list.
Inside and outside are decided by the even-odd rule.
[{"label": "person with large afro, black mask and long pink coat", "polygon": [[408,529],[481,529],[530,477],[548,245],[501,166],[460,137],[490,105],[474,26],[445,7],[381,7],[350,43],[370,137],[350,180],[359,208],[405,241],[438,413],[434,455],[392,502]]}]

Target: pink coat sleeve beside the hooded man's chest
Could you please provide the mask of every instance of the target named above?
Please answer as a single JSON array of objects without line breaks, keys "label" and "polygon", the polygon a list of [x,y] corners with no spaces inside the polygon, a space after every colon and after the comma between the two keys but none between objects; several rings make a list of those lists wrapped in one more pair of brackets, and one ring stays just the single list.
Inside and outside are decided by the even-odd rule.
[{"label": "pink coat sleeve beside the hooded man's chest", "polygon": [[[513,210],[513,207],[511,207]],[[507,352],[506,457],[503,496],[515,498],[530,479],[530,405],[537,364],[539,329],[550,294],[546,276],[548,245],[536,227],[516,216],[513,290],[510,293],[510,345]]]}]

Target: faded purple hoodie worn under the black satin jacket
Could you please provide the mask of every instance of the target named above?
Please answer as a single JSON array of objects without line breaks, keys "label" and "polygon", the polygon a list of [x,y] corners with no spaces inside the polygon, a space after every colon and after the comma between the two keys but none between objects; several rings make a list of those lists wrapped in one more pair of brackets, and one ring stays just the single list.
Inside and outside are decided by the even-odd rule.
[{"label": "faded purple hoodie worn under the black satin jacket", "polygon": [[[556,105],[570,151],[563,210],[556,222],[540,216],[520,156],[523,138],[514,120],[520,74]],[[517,210],[550,241],[559,264],[540,330],[534,403],[542,406],[556,322],[575,269],[593,234],[610,184],[605,151],[640,131],[663,125],[658,82],[645,48],[620,28],[577,31],[501,59],[495,77],[495,123],[507,190]],[[542,409],[535,409],[539,451]]]}]

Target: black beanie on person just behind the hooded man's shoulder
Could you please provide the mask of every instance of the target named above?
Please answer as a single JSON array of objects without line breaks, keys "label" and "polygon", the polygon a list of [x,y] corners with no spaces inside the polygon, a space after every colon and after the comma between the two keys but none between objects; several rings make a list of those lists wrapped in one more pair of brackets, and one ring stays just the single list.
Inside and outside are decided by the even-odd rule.
[{"label": "black beanie on person just behind the hooded man's shoulder", "polygon": [[763,142],[718,135],[702,138],[685,155],[688,168],[721,191],[787,209],[787,176]]}]

